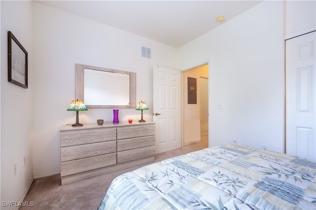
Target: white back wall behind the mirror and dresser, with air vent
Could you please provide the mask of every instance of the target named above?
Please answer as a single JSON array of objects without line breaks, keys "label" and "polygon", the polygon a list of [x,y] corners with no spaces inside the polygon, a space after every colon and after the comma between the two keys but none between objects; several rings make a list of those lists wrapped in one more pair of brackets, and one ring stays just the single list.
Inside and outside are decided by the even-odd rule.
[{"label": "white back wall behind the mirror and dresser, with air vent", "polygon": [[[34,2],[34,92],[33,159],[34,177],[58,174],[60,170],[59,128],[76,121],[66,111],[75,99],[75,64],[136,72],[136,101],[150,110],[152,121],[153,65],[177,69],[177,49],[118,29]],[[152,47],[151,60],[140,58],[140,45]],[[133,108],[119,109],[119,120],[140,119]],[[113,121],[113,109],[79,112],[80,123],[97,119]]]}]

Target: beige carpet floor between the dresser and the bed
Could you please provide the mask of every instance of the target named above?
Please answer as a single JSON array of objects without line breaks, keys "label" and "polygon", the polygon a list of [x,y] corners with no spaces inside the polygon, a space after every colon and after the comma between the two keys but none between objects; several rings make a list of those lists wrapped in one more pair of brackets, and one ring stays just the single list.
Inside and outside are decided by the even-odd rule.
[{"label": "beige carpet floor between the dresser and the bed", "polygon": [[[208,147],[208,140],[203,138],[199,143],[158,154],[155,156],[155,162],[206,147]],[[64,186],[60,185],[60,175],[35,179],[24,199],[25,202],[34,202],[34,206],[21,207],[19,210],[96,210],[112,180],[118,175],[139,167],[128,168]]]}]

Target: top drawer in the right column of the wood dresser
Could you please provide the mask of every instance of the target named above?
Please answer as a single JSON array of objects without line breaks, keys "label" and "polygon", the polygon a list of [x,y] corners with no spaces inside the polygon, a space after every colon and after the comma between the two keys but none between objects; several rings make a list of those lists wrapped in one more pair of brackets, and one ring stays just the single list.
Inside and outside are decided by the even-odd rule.
[{"label": "top drawer in the right column of the wood dresser", "polygon": [[126,126],[118,128],[118,140],[155,135],[155,125]]}]

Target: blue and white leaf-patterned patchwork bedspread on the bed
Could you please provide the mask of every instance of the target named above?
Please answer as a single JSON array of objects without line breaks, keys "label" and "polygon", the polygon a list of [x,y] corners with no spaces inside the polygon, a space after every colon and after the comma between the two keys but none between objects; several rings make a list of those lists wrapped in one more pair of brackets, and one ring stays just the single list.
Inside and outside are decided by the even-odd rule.
[{"label": "blue and white leaf-patterned patchwork bedspread on the bed", "polygon": [[206,148],[118,176],[103,209],[315,210],[316,163],[239,144]]}]

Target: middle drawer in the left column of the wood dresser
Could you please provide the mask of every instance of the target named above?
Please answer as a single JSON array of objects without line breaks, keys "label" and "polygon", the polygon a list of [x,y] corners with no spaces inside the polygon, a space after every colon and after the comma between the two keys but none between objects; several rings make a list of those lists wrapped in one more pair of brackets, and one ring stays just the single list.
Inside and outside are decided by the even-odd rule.
[{"label": "middle drawer in the left column of the wood dresser", "polygon": [[69,161],[79,158],[92,157],[117,151],[117,142],[115,140],[89,143],[76,146],[61,147],[60,161]]}]

